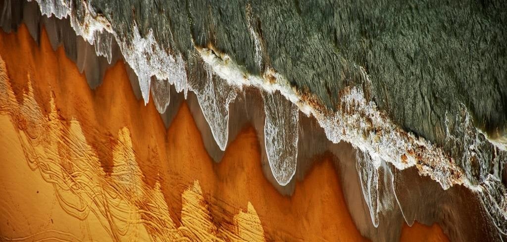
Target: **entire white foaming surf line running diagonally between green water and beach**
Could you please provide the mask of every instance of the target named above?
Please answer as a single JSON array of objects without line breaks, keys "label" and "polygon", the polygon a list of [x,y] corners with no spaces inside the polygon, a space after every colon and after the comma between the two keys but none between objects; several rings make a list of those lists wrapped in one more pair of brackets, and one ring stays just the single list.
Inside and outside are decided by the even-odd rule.
[{"label": "entire white foaming surf line running diagonally between green water and beach", "polygon": [[[507,191],[501,183],[500,169],[498,168],[498,166],[503,166],[505,157],[507,157],[505,146],[503,142],[492,142],[488,137],[484,138],[485,135],[478,129],[472,131],[471,135],[475,138],[467,143],[470,146],[464,148],[467,151],[466,154],[463,154],[463,160],[457,161],[441,147],[424,138],[416,137],[395,125],[386,114],[377,108],[373,101],[367,100],[365,92],[361,88],[354,86],[341,90],[338,109],[335,112],[330,112],[327,108],[319,105],[311,94],[300,92],[291,87],[284,76],[269,66],[262,75],[252,75],[247,73],[245,68],[237,65],[229,55],[213,50],[212,47],[201,48],[194,45],[199,57],[205,63],[208,77],[204,80],[204,86],[196,87],[188,82],[187,65],[182,55],[176,54],[174,57],[161,48],[151,29],[146,36],[140,36],[138,27],[134,23],[132,44],[128,45],[114,31],[112,24],[104,16],[97,14],[88,2],[83,2],[86,3],[83,6],[85,17],[84,21],[80,22],[72,14],[73,6],[71,5],[74,2],[70,2],[71,5],[68,5],[62,0],[36,1],[42,15],[48,17],[53,15],[58,19],[69,18],[71,27],[76,34],[95,46],[96,55],[107,58],[109,63],[113,59],[112,41],[115,41],[120,47],[124,60],[138,77],[145,104],[149,102],[152,76],[157,78],[157,82],[168,82],[170,85],[174,85],[176,91],[183,92],[185,97],[188,91],[194,92],[198,97],[213,138],[221,150],[225,150],[228,144],[229,104],[246,86],[263,90],[265,93],[263,95],[266,112],[265,127],[268,127],[264,130],[265,148],[271,171],[280,185],[286,185],[294,177],[295,160],[298,153],[297,146],[294,147],[294,144],[297,144],[298,137],[283,130],[286,127],[280,128],[281,124],[277,122],[277,119],[289,117],[287,123],[283,123],[283,125],[297,127],[298,119],[291,117],[297,117],[297,112],[302,111],[307,116],[311,115],[316,118],[330,141],[333,143],[349,142],[359,150],[358,152],[364,152],[365,155],[371,157],[367,160],[371,162],[372,167],[368,172],[372,174],[368,174],[367,177],[375,177],[373,173],[381,167],[380,160],[385,160],[400,170],[415,166],[420,175],[429,176],[432,180],[437,181],[443,189],[448,189],[453,185],[463,185],[475,191],[481,197],[483,206],[498,230],[502,234],[507,232]],[[249,30],[256,43],[256,63],[261,65],[264,52],[262,40],[251,26]],[[363,82],[369,85],[370,77],[365,69],[360,66],[353,66],[353,68],[360,73]],[[220,78],[213,78],[214,76]],[[223,92],[223,89],[227,90],[226,94],[218,95],[219,92]],[[283,98],[277,98],[275,93],[279,93]],[[287,103],[286,100],[290,103]],[[163,113],[168,105],[168,100],[166,103],[155,102],[158,111]],[[272,104],[267,107],[266,103]],[[467,112],[465,115],[468,115],[467,118],[471,118]],[[452,136],[449,132],[447,135]],[[271,142],[278,146],[269,148],[268,143]],[[482,144],[495,147],[496,158],[493,162],[496,163],[496,165],[494,164],[496,168],[493,174],[481,173],[481,180],[476,182],[470,171],[456,164],[461,162],[467,168],[467,164],[470,164],[471,159],[475,157],[473,149]],[[286,152],[280,152],[281,150],[286,150]],[[375,209],[372,206],[369,208],[371,211]],[[373,215],[372,222],[375,224]]]}]

